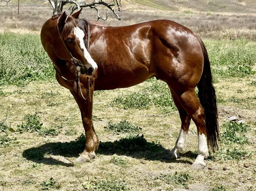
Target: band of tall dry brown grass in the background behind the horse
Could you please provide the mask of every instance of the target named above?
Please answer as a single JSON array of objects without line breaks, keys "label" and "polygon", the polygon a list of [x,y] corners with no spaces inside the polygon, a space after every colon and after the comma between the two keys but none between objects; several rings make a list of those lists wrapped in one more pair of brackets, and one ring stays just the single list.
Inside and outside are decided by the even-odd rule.
[{"label": "band of tall dry brown grass in the background behind the horse", "polygon": [[[225,11],[220,7],[210,9],[209,3],[202,3],[203,1],[197,1],[197,3],[185,0],[173,1],[172,3],[161,1],[161,6],[166,7],[168,5],[168,9],[172,11],[157,9],[159,8],[156,6],[158,1],[153,3],[154,7],[144,6],[143,4],[146,3],[143,2],[146,1],[141,1],[142,4],[138,4],[137,1],[123,1],[125,12],[119,13],[123,17],[123,21],[119,22],[114,15],[110,15],[110,18],[104,23],[106,25],[122,26],[155,19],[169,19],[192,29],[202,38],[229,39],[229,37],[242,37],[248,40],[256,40],[256,15],[250,11],[255,9],[256,5],[253,2],[246,1],[247,4],[242,6],[241,3],[243,2],[228,4],[232,1],[225,1],[223,3],[229,5],[225,8]],[[220,5],[220,2],[217,2],[217,5]],[[213,7],[218,7],[217,5]],[[0,4],[0,9],[3,15],[0,18],[2,24],[0,32],[32,32],[38,34],[42,24],[47,18],[51,17],[52,13],[51,7],[48,4],[45,5],[45,2],[37,7],[21,4],[19,15],[17,15],[17,5],[15,4],[9,4],[8,6]],[[104,12],[105,9],[103,8],[101,13],[104,15]],[[88,20],[97,19],[95,11],[88,8],[83,11],[81,17]]]}]

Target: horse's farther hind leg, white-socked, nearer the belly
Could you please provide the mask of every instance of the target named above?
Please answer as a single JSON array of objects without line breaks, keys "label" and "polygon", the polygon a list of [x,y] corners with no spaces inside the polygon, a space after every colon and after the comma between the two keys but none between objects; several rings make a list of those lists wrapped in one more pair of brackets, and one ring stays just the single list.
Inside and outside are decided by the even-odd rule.
[{"label": "horse's farther hind leg, white-socked, nearer the belly", "polygon": [[[171,89],[170,89],[171,90]],[[176,140],[174,148],[166,155],[166,159],[178,158],[179,152],[183,153],[185,151],[185,142],[186,142],[186,135],[188,132],[189,124],[191,121],[190,115],[187,114],[186,110],[182,107],[177,98],[176,94],[171,90],[171,95],[173,101],[179,111],[179,116],[181,120],[181,128],[179,131],[179,136]]]}]

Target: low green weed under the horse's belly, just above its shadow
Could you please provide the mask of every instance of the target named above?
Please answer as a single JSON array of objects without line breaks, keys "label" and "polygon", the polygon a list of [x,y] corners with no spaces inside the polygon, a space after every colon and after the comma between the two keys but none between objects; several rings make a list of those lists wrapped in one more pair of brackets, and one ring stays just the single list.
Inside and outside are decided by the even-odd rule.
[{"label": "low green weed under the horse's belly, just above its shadow", "polygon": [[141,127],[135,126],[129,121],[121,120],[119,123],[115,124],[112,121],[108,123],[108,126],[105,126],[104,129],[106,131],[113,131],[114,134],[120,134],[120,133],[138,133],[140,130],[142,130]]}]

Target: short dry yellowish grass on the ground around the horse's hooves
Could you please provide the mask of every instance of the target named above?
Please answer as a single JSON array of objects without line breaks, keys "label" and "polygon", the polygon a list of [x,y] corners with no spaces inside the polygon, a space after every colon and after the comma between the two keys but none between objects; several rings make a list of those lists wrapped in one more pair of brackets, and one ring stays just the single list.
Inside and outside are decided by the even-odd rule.
[{"label": "short dry yellowish grass on the ground around the horse's hooves", "polygon": [[[230,80],[223,80],[216,84],[216,90],[224,100],[232,98],[232,92],[234,92],[232,90],[239,90],[240,87],[242,91],[251,92],[250,95],[255,96],[253,87],[249,85],[253,82],[253,78],[236,81],[236,84]],[[52,177],[60,188],[49,187],[50,190],[84,190],[85,183],[92,184],[94,178],[96,178],[97,184],[106,179],[110,181],[109,184],[119,181],[120,184],[125,183],[127,188],[136,191],[181,190],[181,185],[171,182],[166,184],[161,179],[162,175],[173,175],[177,171],[178,174],[187,173],[190,176],[186,185],[191,191],[198,188],[210,190],[216,188],[216,185],[225,185],[234,191],[253,191],[256,174],[256,113],[254,108],[239,109],[243,108],[243,103],[234,104],[232,101],[227,101],[225,105],[219,104],[220,124],[225,122],[227,117],[238,114],[239,119],[245,119],[251,125],[252,129],[246,136],[250,142],[254,143],[243,146],[243,149],[252,151],[251,155],[240,160],[208,160],[206,169],[195,171],[189,167],[195,160],[197,152],[197,133],[194,123],[190,127],[186,150],[191,150],[195,154],[181,156],[178,160],[166,161],[162,158],[168,152],[165,149],[173,147],[179,131],[180,122],[176,113],[153,117],[148,114],[158,114],[159,109],[155,107],[146,110],[124,110],[109,106],[111,100],[118,94],[138,92],[148,87],[149,84],[150,82],[146,82],[129,89],[96,92],[94,115],[100,120],[96,119],[94,126],[102,144],[106,144],[109,141],[113,142],[126,137],[127,134],[112,134],[105,131],[104,126],[107,126],[109,121],[118,123],[120,120],[126,119],[142,128],[141,133],[144,134],[148,143],[152,141],[160,143],[164,148],[163,152],[161,151],[162,155],[157,156],[158,154],[155,153],[156,156],[154,156],[154,153],[148,151],[145,153],[135,151],[124,155],[119,151],[107,152],[100,148],[96,159],[86,164],[75,162],[79,151],[69,154],[69,150],[65,150],[83,132],[78,106],[68,90],[60,87],[55,81],[30,83],[23,88],[1,87],[1,91],[6,94],[1,96],[0,119],[5,118],[5,114],[8,113],[6,124],[16,129],[16,125],[21,123],[25,114],[37,111],[43,126],[53,127],[60,132],[57,136],[41,136],[37,133],[26,132],[22,134],[9,133],[9,136],[16,137],[19,143],[1,148],[0,189],[8,191],[40,190],[42,189],[40,184]],[[232,94],[227,94],[227,92]],[[255,100],[251,102],[252,105],[255,103]],[[67,135],[67,132],[71,130],[76,134]],[[221,149],[227,148],[232,149],[229,145],[221,145]],[[117,159],[124,160],[125,165],[118,162],[113,163],[113,160],[116,159],[113,158],[114,154],[117,154],[115,156]],[[248,164],[248,167],[244,167],[244,164]],[[173,168],[169,168],[169,166],[173,166]]]}]

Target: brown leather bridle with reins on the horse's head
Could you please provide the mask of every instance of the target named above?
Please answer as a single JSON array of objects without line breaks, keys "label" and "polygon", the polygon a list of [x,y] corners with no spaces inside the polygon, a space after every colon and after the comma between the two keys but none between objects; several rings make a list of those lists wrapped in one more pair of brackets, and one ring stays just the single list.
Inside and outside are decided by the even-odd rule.
[{"label": "brown leather bridle with reins on the horse's head", "polygon": [[[66,18],[66,20],[65,20],[65,23],[67,22],[67,19],[68,19],[68,18],[69,18],[69,15],[67,16],[67,18]],[[60,74],[60,72],[56,69],[54,63],[53,63],[53,67],[54,67],[55,71],[59,74],[59,76],[60,76],[62,79],[66,80],[66,81],[69,81],[69,82],[77,81],[77,82],[78,82],[79,89],[80,89],[80,93],[81,93],[83,99],[85,99],[85,100],[88,99],[88,100],[91,102],[90,85],[92,85],[92,83],[91,83],[91,81],[90,81],[89,76],[87,76],[87,83],[88,83],[88,84],[87,84],[87,90],[86,90],[86,91],[87,91],[87,98],[85,98],[85,96],[84,96],[83,93],[82,93],[82,88],[81,88],[81,85],[80,85],[81,68],[80,68],[80,66],[78,66],[78,63],[77,63],[76,59],[72,56],[72,54],[71,54],[71,52],[69,51],[69,49],[68,49],[67,45],[65,44],[64,40],[61,38],[61,35],[60,35],[60,32],[59,32],[60,30],[59,30],[59,27],[58,27],[59,19],[60,19],[60,17],[57,19],[57,24],[56,24],[56,26],[57,26],[57,31],[58,31],[58,35],[59,35],[59,38],[60,38],[60,40],[61,40],[63,46],[65,47],[65,49],[66,49],[66,51],[67,51],[67,53],[68,53],[68,57],[69,57],[68,60],[69,60],[71,63],[73,63],[73,64],[75,65],[75,68],[76,68],[76,71],[77,71],[77,75],[76,75],[77,78],[76,78],[75,80],[69,80],[69,79],[63,77],[63,76]],[[89,25],[88,25],[88,28],[89,28]],[[90,28],[89,28],[89,30],[90,30]],[[90,32],[88,32],[88,47],[89,47],[89,38],[90,38]],[[89,97],[88,97],[88,94],[89,94]]]}]

